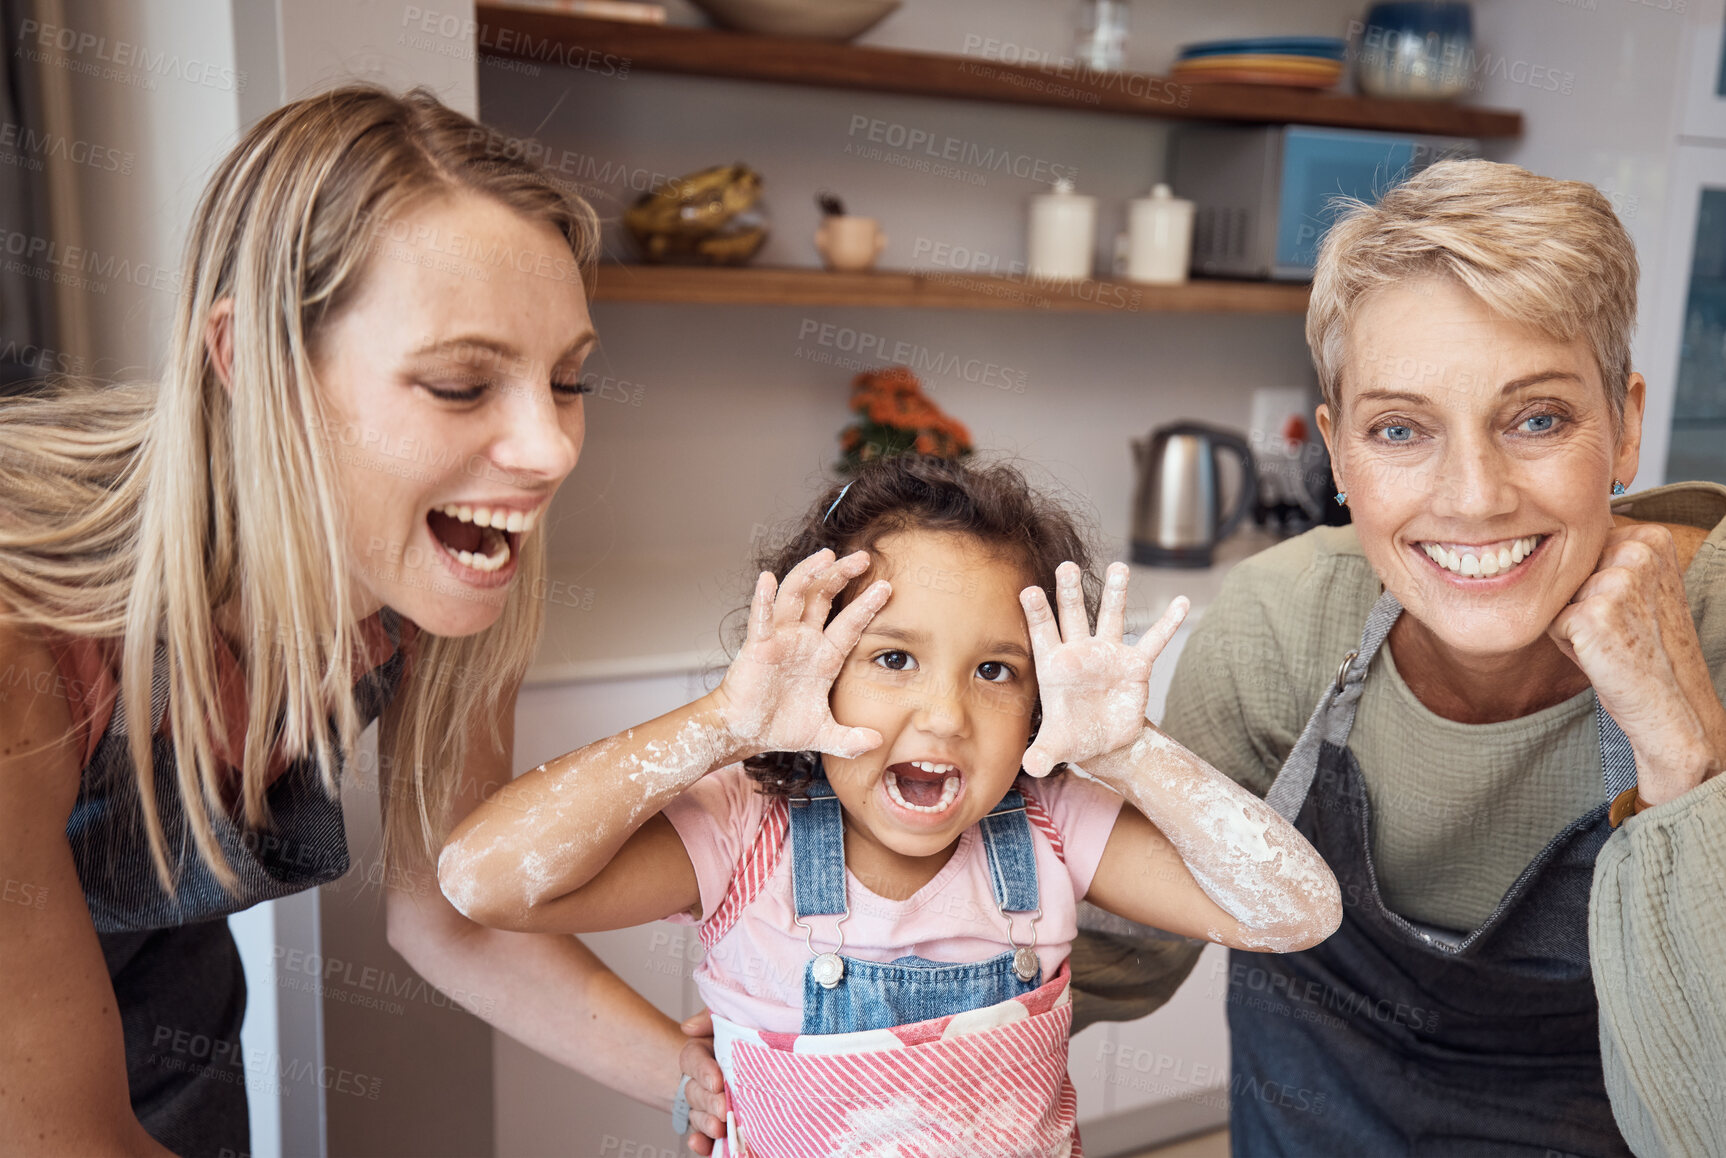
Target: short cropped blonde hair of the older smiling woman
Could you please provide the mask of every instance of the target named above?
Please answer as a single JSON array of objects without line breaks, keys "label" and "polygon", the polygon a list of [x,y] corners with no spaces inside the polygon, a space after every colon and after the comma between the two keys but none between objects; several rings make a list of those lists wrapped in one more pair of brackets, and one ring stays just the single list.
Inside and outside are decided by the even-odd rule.
[{"label": "short cropped blonde hair of the older smiling woman", "polygon": [[1376,205],[1350,198],[1319,249],[1307,307],[1307,345],[1332,412],[1360,304],[1431,276],[1559,342],[1588,342],[1614,423],[1622,419],[1636,247],[1593,185],[1493,160],[1441,160]]}]

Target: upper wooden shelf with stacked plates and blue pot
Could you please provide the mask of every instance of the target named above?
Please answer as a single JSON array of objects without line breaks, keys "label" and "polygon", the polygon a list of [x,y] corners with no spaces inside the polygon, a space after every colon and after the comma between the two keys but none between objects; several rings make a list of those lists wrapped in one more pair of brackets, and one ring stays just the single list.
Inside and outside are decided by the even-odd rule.
[{"label": "upper wooden shelf with stacked plates and blue pot", "polygon": [[1043,69],[984,57],[594,21],[495,3],[480,3],[476,16],[482,59],[575,66],[613,76],[627,62],[628,72],[683,72],[1177,121],[1324,124],[1481,138],[1522,135],[1521,112],[1445,102],[1374,100],[1263,85],[1186,85],[1144,72]]}]

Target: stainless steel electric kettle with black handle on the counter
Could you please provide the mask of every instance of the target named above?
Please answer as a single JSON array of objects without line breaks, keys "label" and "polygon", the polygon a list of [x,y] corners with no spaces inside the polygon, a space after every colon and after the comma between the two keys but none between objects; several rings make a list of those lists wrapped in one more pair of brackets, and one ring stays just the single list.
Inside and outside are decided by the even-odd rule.
[{"label": "stainless steel electric kettle with black handle on the counter", "polygon": [[[1219,452],[1241,456],[1241,485],[1222,511]],[[1210,566],[1212,549],[1239,526],[1258,490],[1246,438],[1201,423],[1175,423],[1132,444],[1139,485],[1132,499],[1132,561]]]}]

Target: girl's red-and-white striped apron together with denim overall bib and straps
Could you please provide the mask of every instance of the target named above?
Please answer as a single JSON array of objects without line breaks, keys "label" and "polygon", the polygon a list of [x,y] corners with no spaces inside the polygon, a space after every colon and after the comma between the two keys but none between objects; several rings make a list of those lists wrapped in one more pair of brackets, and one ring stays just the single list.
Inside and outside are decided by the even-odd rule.
[{"label": "girl's red-and-white striped apron together with denim overall bib and straps", "polygon": [[[780,809],[785,811],[780,811]],[[917,956],[863,961],[844,946],[844,818],[825,778],[808,799],[777,806],[744,858],[765,880],[789,837],[797,925],[809,941],[801,1034],[768,1034],[715,1016],[715,1054],[728,1096],[725,1158],[1067,1158],[1080,1155],[1077,1098],[1067,1077],[1068,972],[1043,982],[1032,937],[1017,944],[1013,913],[1041,915],[1029,815],[1018,790],[979,821],[994,901],[1011,947],[986,961]],[[784,816],[778,823],[775,821]],[[789,828],[789,832],[787,832]],[[1058,847],[1058,846],[1056,846]],[[702,928],[711,947],[740,906]],[[839,947],[815,951],[811,916],[837,916]]]}]

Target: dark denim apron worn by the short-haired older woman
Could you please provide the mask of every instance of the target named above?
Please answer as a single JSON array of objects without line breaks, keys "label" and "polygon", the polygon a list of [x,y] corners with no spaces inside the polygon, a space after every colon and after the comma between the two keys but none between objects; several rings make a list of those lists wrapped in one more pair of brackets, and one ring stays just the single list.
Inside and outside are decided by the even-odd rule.
[{"label": "dark denim apron worn by the short-haired older woman", "polygon": [[1265,796],[1329,863],[1345,909],[1312,949],[1229,954],[1232,1151],[1629,1155],[1607,1101],[1588,963],[1605,801],[1636,782],[1629,740],[1597,702],[1602,804],[1529,861],[1484,925],[1452,934],[1389,911],[1348,732],[1400,614],[1386,592]]}]

